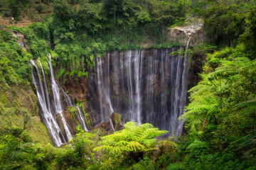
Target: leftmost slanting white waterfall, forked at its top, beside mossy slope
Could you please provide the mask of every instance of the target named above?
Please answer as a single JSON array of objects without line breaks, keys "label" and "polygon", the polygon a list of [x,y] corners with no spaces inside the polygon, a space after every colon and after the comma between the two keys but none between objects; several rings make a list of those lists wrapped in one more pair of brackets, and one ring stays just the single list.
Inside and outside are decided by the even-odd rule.
[{"label": "leftmost slanting white waterfall, forked at its top, beside mossy slope", "polygon": [[[53,140],[53,144],[55,145],[55,147],[59,147],[60,145],[63,145],[63,143],[65,143],[66,141],[55,118],[53,117],[53,114],[50,112],[50,106],[48,107],[48,99],[46,99],[48,98],[46,79],[43,76],[43,81],[45,82],[45,91],[47,91],[46,93],[44,93],[38,67],[36,66],[35,62],[33,62],[33,60],[31,60],[31,64],[33,64],[34,68],[36,68],[34,69],[36,72],[32,72],[31,74],[33,84],[36,86],[36,94],[38,96],[39,106],[41,108],[41,119],[43,120],[43,123],[46,125],[46,128],[50,133],[50,137]],[[41,69],[43,72],[42,65]]]}]

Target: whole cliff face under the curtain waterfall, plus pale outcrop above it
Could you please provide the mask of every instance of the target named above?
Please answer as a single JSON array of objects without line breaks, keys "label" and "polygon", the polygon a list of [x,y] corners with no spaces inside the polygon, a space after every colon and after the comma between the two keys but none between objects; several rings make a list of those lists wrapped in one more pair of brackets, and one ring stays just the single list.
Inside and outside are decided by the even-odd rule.
[{"label": "whole cliff face under the curtain waterfall, plus pale outcrop above it", "polygon": [[177,118],[188,103],[186,90],[199,81],[204,58],[170,53],[186,50],[188,39],[190,47],[203,42],[203,23],[194,18],[190,22],[166,33],[183,47],[106,52],[100,59],[95,56],[88,79],[74,75],[65,81],[65,90],[75,101],[87,101],[89,129],[110,124],[112,114],[119,113],[124,121],[152,123],[181,134],[183,124]]}]

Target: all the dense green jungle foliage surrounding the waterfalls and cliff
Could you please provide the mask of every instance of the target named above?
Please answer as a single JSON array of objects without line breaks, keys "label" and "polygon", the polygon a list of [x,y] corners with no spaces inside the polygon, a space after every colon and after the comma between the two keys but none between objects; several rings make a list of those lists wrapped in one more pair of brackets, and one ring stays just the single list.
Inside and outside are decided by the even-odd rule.
[{"label": "all the dense green jungle foliage surrounding the waterfalls and cliff", "polygon": [[[7,27],[24,35],[27,52],[0,30],[0,169],[256,169],[256,1],[0,0],[0,8],[16,21],[51,13],[26,28]],[[65,83],[88,75],[93,55],[106,50],[179,45],[163,30],[188,15],[203,18],[206,33],[206,44],[189,53],[207,59],[188,91],[185,134],[156,142],[166,131],[127,123],[104,137],[80,130],[65,147],[43,143],[50,140],[36,121],[29,60],[41,60],[47,74],[50,51]]]}]

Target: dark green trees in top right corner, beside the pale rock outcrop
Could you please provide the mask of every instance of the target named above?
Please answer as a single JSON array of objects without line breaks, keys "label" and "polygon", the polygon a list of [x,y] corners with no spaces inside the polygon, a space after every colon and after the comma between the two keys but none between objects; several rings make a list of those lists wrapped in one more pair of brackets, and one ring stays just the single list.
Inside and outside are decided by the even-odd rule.
[{"label": "dark green trees in top right corner, beside the pale rock outcrop", "polygon": [[256,1],[201,1],[193,11],[204,18],[208,42],[218,45],[245,45],[245,54],[255,59]]}]

